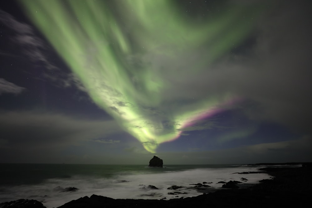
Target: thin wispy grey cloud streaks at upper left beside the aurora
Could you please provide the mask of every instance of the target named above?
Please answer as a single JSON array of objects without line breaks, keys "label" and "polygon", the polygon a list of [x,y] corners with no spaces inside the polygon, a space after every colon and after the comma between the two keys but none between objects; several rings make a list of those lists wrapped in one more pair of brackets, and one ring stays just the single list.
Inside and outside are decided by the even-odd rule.
[{"label": "thin wispy grey cloud streaks at upper left beside the aurora", "polygon": [[7,52],[12,51],[11,48],[10,50],[3,49],[0,51],[2,56],[17,57],[27,61],[30,60],[36,65],[44,65],[43,69],[45,70],[40,72],[42,75],[41,77],[38,77],[38,72],[33,73],[32,71],[25,69],[26,73],[33,73],[33,78],[35,79],[47,79],[53,81],[52,84],[58,87],[75,86],[83,92],[87,91],[75,74],[70,72],[67,73],[64,69],[60,70],[59,66],[49,60],[48,56],[45,54],[51,53],[52,48],[50,48],[50,46],[36,34],[35,28],[27,23],[18,21],[11,14],[1,9],[0,22],[7,27],[10,32],[12,31],[12,36],[10,36],[7,41],[10,41],[11,45],[17,47],[18,51],[23,51],[23,53],[20,54],[17,54],[17,52],[14,51],[15,54],[12,54],[11,52]]}]

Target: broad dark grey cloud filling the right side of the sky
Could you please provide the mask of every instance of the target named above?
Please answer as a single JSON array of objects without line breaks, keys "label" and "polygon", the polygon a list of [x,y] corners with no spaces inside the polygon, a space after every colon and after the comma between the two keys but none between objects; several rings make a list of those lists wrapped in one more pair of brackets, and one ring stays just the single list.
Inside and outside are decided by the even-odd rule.
[{"label": "broad dark grey cloud filling the right side of the sky", "polygon": [[266,4],[248,38],[237,46],[240,50],[233,49],[201,69],[190,70],[209,56],[209,47],[185,51],[178,60],[161,54],[145,57],[170,85],[163,92],[165,112],[170,112],[171,103],[181,103],[174,110],[183,112],[192,108],[192,101],[236,95],[250,103],[243,109],[250,119],[311,133],[311,3]]}]

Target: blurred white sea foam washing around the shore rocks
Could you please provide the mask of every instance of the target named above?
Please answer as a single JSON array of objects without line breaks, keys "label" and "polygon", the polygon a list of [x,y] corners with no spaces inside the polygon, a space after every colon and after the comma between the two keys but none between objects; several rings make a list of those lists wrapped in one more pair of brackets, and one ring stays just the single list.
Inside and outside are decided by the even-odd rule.
[{"label": "blurred white sea foam washing around the shore rocks", "polygon": [[[120,172],[114,177],[74,175],[69,178],[50,178],[36,185],[3,186],[0,191],[0,202],[12,201],[20,198],[41,201],[47,208],[57,207],[92,194],[107,196],[114,199],[171,199],[176,197],[192,197],[202,194],[194,188],[196,183],[208,182],[207,191],[221,189],[219,181],[247,178],[246,184],[255,184],[259,180],[268,179],[265,173],[258,174],[233,174],[233,172],[257,171],[256,167],[237,166],[234,168],[193,168],[175,171],[174,168],[155,170],[153,172]],[[158,189],[151,189],[153,185]],[[168,190],[173,185],[182,186],[177,190]],[[74,192],[60,192],[56,187],[76,187]],[[168,194],[169,192],[173,194]],[[174,193],[178,192],[178,193]]]}]

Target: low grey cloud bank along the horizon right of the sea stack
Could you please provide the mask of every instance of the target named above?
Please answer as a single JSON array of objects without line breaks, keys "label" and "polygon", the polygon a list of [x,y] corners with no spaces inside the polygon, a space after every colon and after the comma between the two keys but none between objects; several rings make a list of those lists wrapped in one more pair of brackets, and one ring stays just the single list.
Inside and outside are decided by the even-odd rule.
[{"label": "low grey cloud bank along the horizon right of the sea stack", "polygon": [[[260,162],[310,162],[312,138],[261,143],[211,151],[158,152],[164,164],[250,164]],[[183,159],[181,159],[183,158]]]}]

